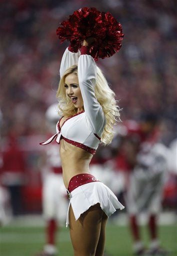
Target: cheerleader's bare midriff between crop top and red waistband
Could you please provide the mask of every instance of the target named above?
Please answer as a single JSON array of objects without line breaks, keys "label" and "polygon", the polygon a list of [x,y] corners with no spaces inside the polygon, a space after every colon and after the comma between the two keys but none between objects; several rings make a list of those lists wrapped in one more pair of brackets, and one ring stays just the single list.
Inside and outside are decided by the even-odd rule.
[{"label": "cheerleader's bare midriff between crop top and red waistband", "polygon": [[89,173],[89,163],[92,154],[82,148],[71,145],[64,139],[60,140],[59,147],[62,176],[65,187],[68,187],[69,180],[76,174]]}]

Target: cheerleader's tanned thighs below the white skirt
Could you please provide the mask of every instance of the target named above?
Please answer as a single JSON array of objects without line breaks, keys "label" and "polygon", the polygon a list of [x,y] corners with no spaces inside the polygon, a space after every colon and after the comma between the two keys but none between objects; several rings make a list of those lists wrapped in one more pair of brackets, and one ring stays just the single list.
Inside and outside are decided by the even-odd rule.
[{"label": "cheerleader's tanned thighs below the white skirt", "polygon": [[75,221],[72,207],[69,209],[69,229],[74,255],[94,255],[99,240],[103,211],[99,203],[83,212]]}]

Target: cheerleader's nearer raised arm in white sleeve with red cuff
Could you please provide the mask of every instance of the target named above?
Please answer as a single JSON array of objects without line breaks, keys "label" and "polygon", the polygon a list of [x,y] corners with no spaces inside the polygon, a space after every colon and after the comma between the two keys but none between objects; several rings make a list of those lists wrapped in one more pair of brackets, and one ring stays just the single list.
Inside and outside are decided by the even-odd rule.
[{"label": "cheerleader's nearer raised arm in white sleeve with red cuff", "polygon": [[92,131],[100,135],[105,125],[105,117],[95,97],[96,64],[87,52],[86,44],[81,47],[78,58],[78,81],[83,98],[84,111]]}]

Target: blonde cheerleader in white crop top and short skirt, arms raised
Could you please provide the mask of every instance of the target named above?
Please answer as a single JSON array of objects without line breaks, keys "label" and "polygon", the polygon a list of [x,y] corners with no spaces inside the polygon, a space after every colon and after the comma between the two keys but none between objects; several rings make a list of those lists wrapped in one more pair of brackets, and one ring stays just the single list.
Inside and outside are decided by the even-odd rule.
[{"label": "blonde cheerleader in white crop top and short skirt, arms raised", "polygon": [[88,53],[93,40],[83,40],[78,52],[66,48],[56,93],[62,117],[56,133],[41,144],[53,139],[60,144],[62,176],[70,199],[66,225],[74,255],[101,256],[107,217],[124,206],[89,170],[99,142],[111,142],[112,126],[119,117],[115,94]]}]

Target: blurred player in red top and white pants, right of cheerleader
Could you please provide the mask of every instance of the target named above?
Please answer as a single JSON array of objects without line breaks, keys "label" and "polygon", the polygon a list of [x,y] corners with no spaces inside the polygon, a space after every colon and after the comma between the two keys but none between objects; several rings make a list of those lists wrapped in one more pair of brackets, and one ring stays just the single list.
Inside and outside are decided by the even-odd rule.
[{"label": "blurred player in red top and white pants, right of cheerleader", "polygon": [[[136,129],[135,129],[136,127]],[[133,251],[136,255],[166,255],[160,248],[157,217],[160,213],[162,193],[167,171],[168,149],[159,142],[159,120],[156,114],[147,112],[140,116],[138,125],[127,128],[121,150],[129,166],[125,203],[133,236]],[[141,240],[138,215],[148,216],[150,235],[149,249]]]}]

